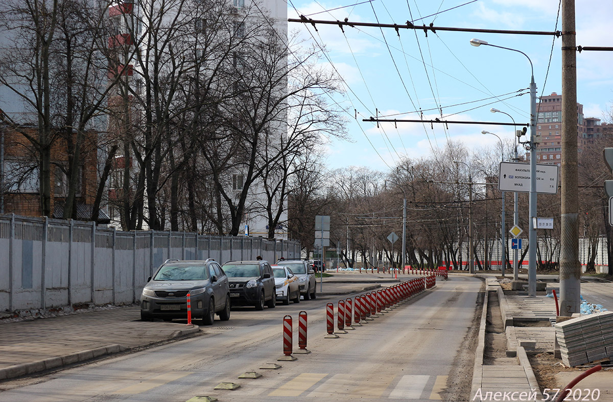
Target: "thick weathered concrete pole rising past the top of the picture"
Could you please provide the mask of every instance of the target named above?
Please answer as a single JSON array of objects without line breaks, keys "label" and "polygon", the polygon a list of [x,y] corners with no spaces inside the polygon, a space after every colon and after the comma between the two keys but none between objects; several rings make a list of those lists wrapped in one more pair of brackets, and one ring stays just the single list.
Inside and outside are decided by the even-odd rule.
[{"label": "thick weathered concrete pole rising past the top of the picture", "polygon": [[577,62],[574,0],[562,1],[562,207],[560,316],[579,313],[579,211],[577,185]]}]

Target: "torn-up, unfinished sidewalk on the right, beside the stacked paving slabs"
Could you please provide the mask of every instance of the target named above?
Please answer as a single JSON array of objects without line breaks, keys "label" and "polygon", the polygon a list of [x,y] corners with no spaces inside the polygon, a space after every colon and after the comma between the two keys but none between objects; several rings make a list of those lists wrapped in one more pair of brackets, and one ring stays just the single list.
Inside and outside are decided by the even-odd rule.
[{"label": "torn-up, unfinished sidewalk on the right, beside the stacked paving slabs", "polygon": [[[481,331],[475,367],[473,373],[473,390],[471,399],[479,395],[482,400],[493,400],[495,396],[504,396],[506,392],[517,392],[528,400],[536,389],[563,389],[569,382],[579,376],[585,368],[564,368],[561,359],[555,359],[555,329],[550,319],[555,320],[555,300],[538,294],[528,297],[517,292],[504,292],[495,275],[479,275],[485,278],[485,300],[497,298],[500,303],[500,321],[506,335],[506,356],[489,359],[484,364],[485,333],[489,334],[490,351],[495,348],[495,310],[487,311],[487,303],[482,313]],[[598,303],[613,310],[613,283],[582,283],[581,294],[585,300]],[[490,303],[491,300],[490,300]],[[491,306],[490,306],[491,307]],[[488,326],[488,330],[485,327]],[[500,345],[498,345],[500,346]],[[503,349],[504,350],[504,349]],[[528,359],[528,355],[532,357]],[[489,356],[491,357],[491,356]],[[558,364],[560,363],[560,364]],[[535,375],[536,374],[536,375]],[[540,382],[537,382],[537,378]],[[592,374],[577,384],[574,389],[600,390],[599,401],[613,401],[613,371],[605,369]],[[488,393],[489,392],[489,393]],[[501,394],[495,394],[501,392]],[[525,392],[525,394],[524,394]],[[489,395],[489,399],[486,398]],[[541,400],[540,391],[536,400]],[[551,399],[553,396],[549,396]],[[518,400],[518,399],[516,399]],[[530,399],[534,400],[534,399]]]}]

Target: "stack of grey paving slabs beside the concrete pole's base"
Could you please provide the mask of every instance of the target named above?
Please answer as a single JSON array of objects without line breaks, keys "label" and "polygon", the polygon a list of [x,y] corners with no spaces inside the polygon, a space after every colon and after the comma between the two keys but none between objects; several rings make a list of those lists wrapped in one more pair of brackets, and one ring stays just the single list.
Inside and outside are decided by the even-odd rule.
[{"label": "stack of grey paving slabs beside the concrete pole's base", "polygon": [[562,362],[575,367],[613,359],[613,311],[581,316],[555,324]]}]

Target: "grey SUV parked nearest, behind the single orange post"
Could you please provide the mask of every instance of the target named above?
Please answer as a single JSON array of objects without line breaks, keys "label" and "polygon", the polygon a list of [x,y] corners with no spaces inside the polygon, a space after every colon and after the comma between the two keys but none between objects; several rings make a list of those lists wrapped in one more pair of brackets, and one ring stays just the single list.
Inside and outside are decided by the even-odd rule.
[{"label": "grey SUV parked nearest, behind the single orange post", "polygon": [[214,259],[206,261],[167,259],[149,277],[140,296],[140,318],[187,318],[187,294],[191,298],[191,315],[213,324],[215,313],[221,321],[230,319],[229,281]]}]

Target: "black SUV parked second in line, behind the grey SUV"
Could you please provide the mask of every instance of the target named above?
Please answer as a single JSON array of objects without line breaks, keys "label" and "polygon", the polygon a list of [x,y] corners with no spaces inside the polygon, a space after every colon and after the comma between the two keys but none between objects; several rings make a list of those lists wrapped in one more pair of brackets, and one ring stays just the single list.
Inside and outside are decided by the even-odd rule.
[{"label": "black SUV parked second in line, behind the grey SUV", "polygon": [[228,261],[223,270],[230,283],[232,305],[253,305],[256,310],[275,308],[275,278],[268,261]]}]

